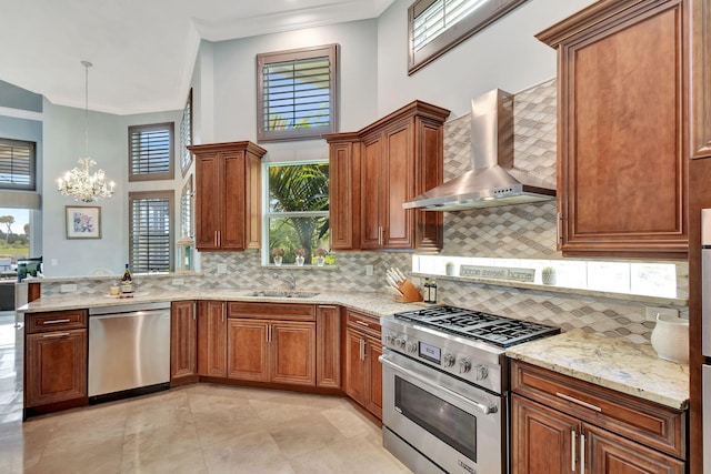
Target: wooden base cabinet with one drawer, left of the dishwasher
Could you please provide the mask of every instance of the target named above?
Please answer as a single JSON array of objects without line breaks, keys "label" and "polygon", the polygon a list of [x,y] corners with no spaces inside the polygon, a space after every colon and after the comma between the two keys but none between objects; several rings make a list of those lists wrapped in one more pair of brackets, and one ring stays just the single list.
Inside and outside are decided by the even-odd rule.
[{"label": "wooden base cabinet with one drawer, left of the dishwasher", "polygon": [[28,314],[24,409],[87,403],[86,310]]}]

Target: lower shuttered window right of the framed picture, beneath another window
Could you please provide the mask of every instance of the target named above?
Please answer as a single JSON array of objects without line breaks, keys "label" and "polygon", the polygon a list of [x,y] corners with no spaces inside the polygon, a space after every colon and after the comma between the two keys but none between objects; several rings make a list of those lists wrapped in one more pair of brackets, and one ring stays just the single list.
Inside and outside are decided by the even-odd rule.
[{"label": "lower shuttered window right of the framed picture, beneath another window", "polygon": [[129,214],[131,269],[137,273],[171,271],[173,192],[131,192]]}]

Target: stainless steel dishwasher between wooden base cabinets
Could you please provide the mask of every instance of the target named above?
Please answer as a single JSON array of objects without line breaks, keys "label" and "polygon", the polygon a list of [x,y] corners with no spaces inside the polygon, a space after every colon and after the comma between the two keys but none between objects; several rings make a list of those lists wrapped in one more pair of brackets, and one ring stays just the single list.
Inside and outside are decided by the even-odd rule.
[{"label": "stainless steel dishwasher between wooden base cabinets", "polygon": [[89,309],[89,402],[170,385],[170,303]]}]

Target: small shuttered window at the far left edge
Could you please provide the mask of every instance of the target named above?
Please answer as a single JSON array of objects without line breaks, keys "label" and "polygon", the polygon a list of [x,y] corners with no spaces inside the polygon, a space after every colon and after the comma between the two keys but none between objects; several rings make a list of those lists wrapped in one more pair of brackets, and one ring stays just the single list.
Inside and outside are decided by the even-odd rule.
[{"label": "small shuttered window at the far left edge", "polygon": [[0,139],[0,189],[34,191],[34,142]]}]

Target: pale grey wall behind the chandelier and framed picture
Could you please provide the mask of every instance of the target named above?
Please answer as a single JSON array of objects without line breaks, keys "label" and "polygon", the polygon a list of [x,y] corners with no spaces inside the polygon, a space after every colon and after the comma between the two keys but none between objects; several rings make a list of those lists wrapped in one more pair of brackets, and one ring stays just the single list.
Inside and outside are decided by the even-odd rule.
[{"label": "pale grey wall behind the chandelier and framed picture", "polygon": [[[84,110],[54,105],[44,100],[44,153],[42,185],[42,256],[47,276],[88,275],[93,269],[119,273],[128,262],[128,192],[146,189],[176,189],[178,180],[153,183],[128,183],[128,127],[174,121],[180,111],[141,115],[113,115],[89,112],[89,157],[117,183],[111,199],[97,203],[76,202],[57,192],[57,178],[78,165],[84,157]],[[177,133],[176,137],[179,137]],[[180,177],[178,170],[176,177]],[[176,196],[176,203],[179,196]],[[64,206],[101,208],[101,239],[68,240]],[[176,216],[177,219],[177,216]],[[177,221],[179,222],[179,221]],[[53,260],[57,265],[53,265]]]}]

